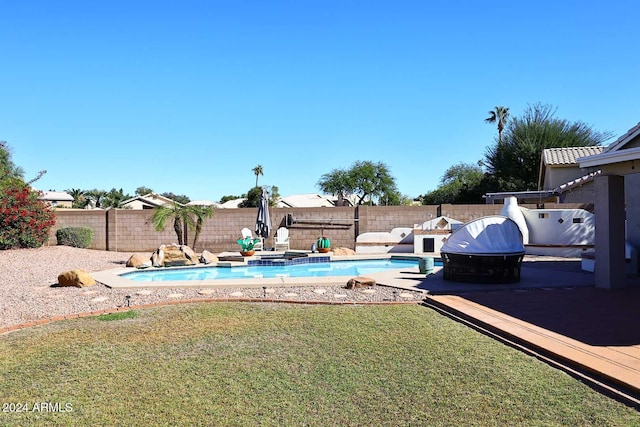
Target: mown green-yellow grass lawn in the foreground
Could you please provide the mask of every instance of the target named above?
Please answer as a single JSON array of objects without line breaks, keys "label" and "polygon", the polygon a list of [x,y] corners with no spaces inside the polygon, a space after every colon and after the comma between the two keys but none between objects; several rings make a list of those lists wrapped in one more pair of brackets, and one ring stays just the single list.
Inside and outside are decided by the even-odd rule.
[{"label": "mown green-yellow grass lawn in the foreground", "polygon": [[[111,315],[110,315],[111,316]],[[0,337],[1,425],[640,425],[419,306],[196,304]]]}]

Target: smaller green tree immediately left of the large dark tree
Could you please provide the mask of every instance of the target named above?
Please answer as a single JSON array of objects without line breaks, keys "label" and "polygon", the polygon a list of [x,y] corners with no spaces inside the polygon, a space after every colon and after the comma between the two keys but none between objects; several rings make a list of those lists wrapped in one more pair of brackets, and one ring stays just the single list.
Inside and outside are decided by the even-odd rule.
[{"label": "smaller green tree immediately left of the large dark tree", "polygon": [[440,179],[440,186],[421,196],[425,205],[442,203],[481,203],[481,194],[477,189],[484,178],[479,165],[458,163],[447,169]]}]

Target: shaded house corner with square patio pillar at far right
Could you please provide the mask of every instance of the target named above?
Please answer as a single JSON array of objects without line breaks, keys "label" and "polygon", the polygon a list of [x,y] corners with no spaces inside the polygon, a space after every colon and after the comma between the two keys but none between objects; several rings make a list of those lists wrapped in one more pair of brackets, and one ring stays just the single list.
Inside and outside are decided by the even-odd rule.
[{"label": "shaded house corner with square patio pillar at far right", "polygon": [[594,179],[596,286],[625,287],[625,241],[640,249],[640,123],[602,153],[577,161],[588,172],[600,171]]}]

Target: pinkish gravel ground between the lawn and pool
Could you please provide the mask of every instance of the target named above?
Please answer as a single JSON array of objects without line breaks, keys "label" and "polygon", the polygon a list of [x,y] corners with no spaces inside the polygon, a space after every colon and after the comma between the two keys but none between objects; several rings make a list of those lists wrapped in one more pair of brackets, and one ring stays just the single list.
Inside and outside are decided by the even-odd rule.
[{"label": "pinkish gravel ground between the lawn and pool", "polygon": [[[153,288],[111,289],[98,283],[87,288],[57,287],[58,274],[73,269],[89,273],[124,267],[131,256],[68,246],[0,251],[0,328],[26,322],[131,305],[194,298],[271,298],[299,301],[382,302],[421,301],[420,292],[386,286],[345,289],[344,286],[286,288]],[[348,278],[345,278],[345,283]],[[372,292],[375,290],[375,292]],[[129,296],[129,299],[127,299]]]}]

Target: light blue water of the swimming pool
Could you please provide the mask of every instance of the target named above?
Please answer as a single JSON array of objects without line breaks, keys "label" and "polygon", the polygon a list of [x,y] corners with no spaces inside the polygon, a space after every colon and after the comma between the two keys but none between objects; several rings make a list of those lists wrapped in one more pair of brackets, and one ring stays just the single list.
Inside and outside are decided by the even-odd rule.
[{"label": "light blue water of the swimming pool", "polygon": [[276,277],[364,276],[384,270],[417,267],[417,260],[333,261],[315,264],[247,267],[200,267],[175,270],[135,271],[123,274],[136,282]]}]

